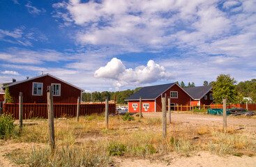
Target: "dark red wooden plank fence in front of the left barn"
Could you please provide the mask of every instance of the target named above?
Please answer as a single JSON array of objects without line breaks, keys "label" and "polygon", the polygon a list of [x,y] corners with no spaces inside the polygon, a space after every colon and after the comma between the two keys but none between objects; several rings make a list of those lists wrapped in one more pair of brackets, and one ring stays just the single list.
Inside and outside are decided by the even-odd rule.
[{"label": "dark red wooden plank fence in front of the left barn", "polygon": [[[77,104],[53,104],[54,118],[77,116]],[[110,113],[115,113],[116,104],[109,104]],[[80,116],[105,112],[105,104],[80,104]],[[3,113],[19,119],[19,104],[3,104]],[[23,104],[23,119],[48,118],[47,104]]]}]

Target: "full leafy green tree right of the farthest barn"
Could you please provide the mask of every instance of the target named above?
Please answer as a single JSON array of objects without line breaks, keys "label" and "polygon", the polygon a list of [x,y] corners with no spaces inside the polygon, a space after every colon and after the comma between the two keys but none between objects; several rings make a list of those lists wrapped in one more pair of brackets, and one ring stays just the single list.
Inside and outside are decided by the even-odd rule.
[{"label": "full leafy green tree right of the farthest barn", "polygon": [[220,74],[213,83],[213,99],[216,104],[223,103],[223,97],[227,97],[227,104],[239,102],[239,94],[236,90],[236,81],[230,74]]}]

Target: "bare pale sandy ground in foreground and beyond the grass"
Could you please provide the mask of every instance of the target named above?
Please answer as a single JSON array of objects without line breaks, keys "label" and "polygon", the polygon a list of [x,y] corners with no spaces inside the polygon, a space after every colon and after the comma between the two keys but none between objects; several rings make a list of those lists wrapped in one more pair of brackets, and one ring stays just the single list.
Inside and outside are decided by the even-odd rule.
[{"label": "bare pale sandy ground in foreground and beyond the grass", "polygon": [[[161,118],[161,113],[143,113],[144,118],[158,117]],[[168,115],[167,115],[168,118]],[[186,123],[191,126],[221,126],[223,125],[222,116],[207,116],[192,113],[172,113],[172,122],[174,123]],[[227,125],[234,126],[237,129],[246,129],[256,134],[256,119],[255,118],[241,118],[241,117],[227,117]],[[8,154],[12,150],[27,149],[33,147],[33,143],[9,143],[8,141],[0,140],[0,167],[1,166],[17,166],[6,159],[4,155]],[[149,159],[137,159],[114,157],[116,164],[114,166],[176,166],[176,167],[256,167],[256,157],[235,157],[235,156],[223,156],[211,154],[209,152],[199,152],[191,157],[183,157],[175,152],[165,155],[164,161],[150,161]]]}]

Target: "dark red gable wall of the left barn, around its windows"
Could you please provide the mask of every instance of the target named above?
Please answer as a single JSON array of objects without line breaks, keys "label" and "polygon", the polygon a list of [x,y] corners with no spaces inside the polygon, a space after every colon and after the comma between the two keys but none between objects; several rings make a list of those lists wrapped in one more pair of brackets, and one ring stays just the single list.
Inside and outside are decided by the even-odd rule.
[{"label": "dark red gable wall of the left barn, around its windows", "polygon": [[[32,95],[33,82],[43,83],[43,95]],[[47,103],[47,86],[51,86],[51,84],[61,84],[61,95],[53,96],[55,104],[75,104],[77,103],[77,97],[81,96],[81,90],[48,75],[10,86],[9,92],[14,103],[19,102],[20,92],[23,94],[23,103]]]}]

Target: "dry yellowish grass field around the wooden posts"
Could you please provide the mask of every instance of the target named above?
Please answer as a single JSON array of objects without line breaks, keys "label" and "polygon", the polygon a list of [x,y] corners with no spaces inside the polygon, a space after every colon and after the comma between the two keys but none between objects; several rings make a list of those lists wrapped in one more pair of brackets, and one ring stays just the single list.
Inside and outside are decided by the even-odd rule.
[{"label": "dry yellowish grass field around the wooden posts", "polygon": [[[107,166],[115,155],[156,159],[170,152],[188,157],[201,150],[218,155],[256,154],[255,136],[251,132],[236,131],[234,127],[223,133],[221,127],[172,123],[163,140],[160,118],[123,121],[110,116],[109,122],[110,128],[105,129],[103,116],[84,116],[79,122],[75,118],[54,120],[57,149],[53,156],[48,148],[32,148],[26,153],[24,150],[12,152],[8,157],[17,164],[29,166],[48,166],[49,163],[51,166]],[[38,125],[25,126],[22,134],[16,133],[10,139],[47,143],[47,129],[47,121],[41,121]]]}]

